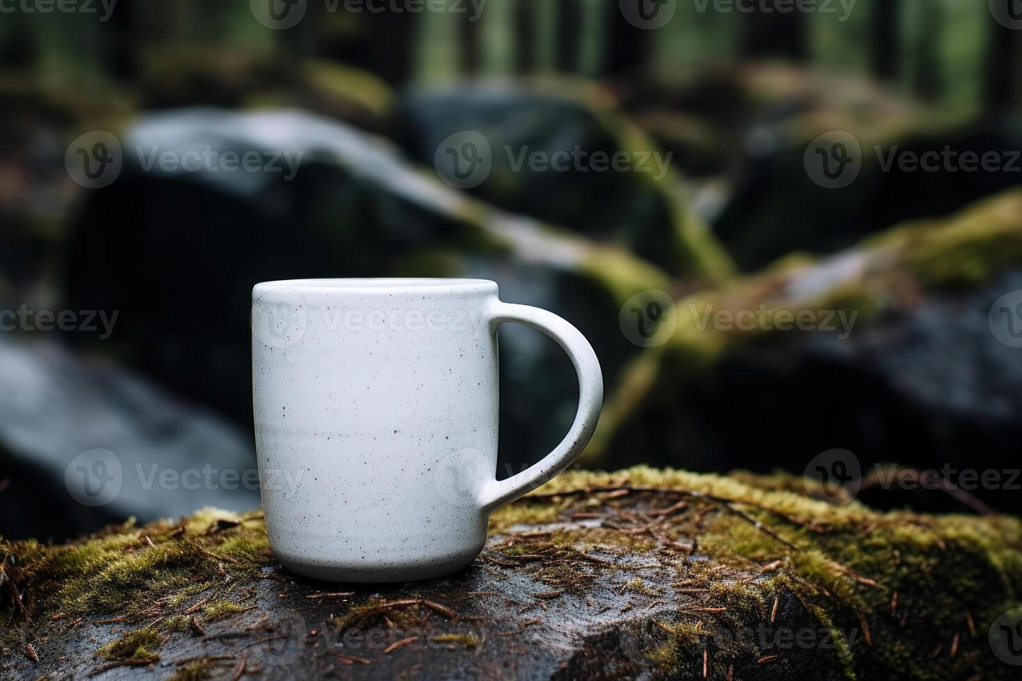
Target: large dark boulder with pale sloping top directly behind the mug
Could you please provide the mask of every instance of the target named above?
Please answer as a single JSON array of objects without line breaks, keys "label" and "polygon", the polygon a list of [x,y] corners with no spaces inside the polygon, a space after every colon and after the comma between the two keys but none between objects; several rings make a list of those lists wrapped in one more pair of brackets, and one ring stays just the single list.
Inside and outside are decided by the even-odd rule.
[{"label": "large dark boulder with pale sloping top directly behind the mug", "polygon": [[[610,373],[638,349],[618,330],[620,306],[669,286],[619,246],[496,209],[385,141],[323,117],[177,111],[142,119],[123,147],[121,176],[89,192],[77,216],[66,305],[120,310],[104,351],[242,424],[251,420],[248,314],[260,281],[493,279],[506,300],[575,324]],[[214,159],[254,150],[265,154],[261,168],[277,172],[230,173],[216,160],[195,172],[144,164],[154,152],[203,148]],[[501,400],[501,449],[517,469],[560,441],[576,383],[555,343],[513,325],[501,340],[501,380],[514,396]],[[541,427],[538,414],[552,418]]]}]

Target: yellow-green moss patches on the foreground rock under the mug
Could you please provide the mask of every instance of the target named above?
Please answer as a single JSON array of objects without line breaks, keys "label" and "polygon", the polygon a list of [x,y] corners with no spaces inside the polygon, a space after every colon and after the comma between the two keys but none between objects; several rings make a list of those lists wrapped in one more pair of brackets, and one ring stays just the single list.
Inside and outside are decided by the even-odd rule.
[{"label": "yellow-green moss patches on the foreground rock under the mug", "polygon": [[[658,513],[650,515],[654,509]],[[582,512],[602,519],[598,522],[603,526],[572,522]],[[14,580],[34,594],[32,616],[36,627],[45,629],[58,626],[50,622],[65,626],[73,615],[62,607],[56,613],[59,599],[40,597],[47,589],[72,593],[60,591],[63,587],[45,572],[47,567],[59,575],[68,574],[72,567],[102,574],[103,565],[94,562],[117,563],[129,549],[153,550],[140,537],[150,537],[159,552],[169,550],[172,541],[189,543],[201,556],[193,570],[219,575],[213,580],[217,584],[225,576],[221,569],[228,575],[233,572],[232,580],[234,576],[259,579],[257,569],[243,566],[248,558],[268,562],[253,548],[265,541],[261,518],[227,516],[243,522],[218,527],[216,520],[224,517],[202,512],[186,521],[181,536],[176,536],[176,526],[156,523],[113,528],[67,546],[8,542],[4,548],[18,556]],[[655,521],[649,525],[651,519]],[[1022,597],[1018,519],[878,513],[854,501],[841,506],[818,501],[787,475],[722,477],[638,467],[616,473],[562,474],[495,513],[492,520],[492,531],[509,534],[496,538],[486,555],[503,554],[498,560],[515,564],[507,570],[521,571],[522,576],[548,584],[551,591],[586,599],[597,597],[592,589],[601,580],[593,579],[594,574],[626,572],[635,556],[649,556],[669,544],[669,561],[660,564],[677,570],[678,582],[671,582],[669,589],[660,583],[653,588],[653,578],[646,573],[642,578],[628,573],[613,581],[619,585],[619,595],[599,596],[631,602],[638,599],[631,594],[642,594],[672,606],[672,613],[658,616],[656,622],[642,616],[635,619],[648,630],[636,652],[668,676],[701,678],[705,654],[710,678],[728,678],[731,666],[755,664],[776,652],[758,636],[736,632],[773,634],[789,629],[828,632],[830,649],[802,654],[822,665],[831,664],[820,662],[822,658],[832,659],[832,666],[847,679],[881,678],[877,676],[881,672],[918,681],[973,675],[1011,678],[995,666],[996,660],[991,661],[984,632],[988,623]],[[517,525],[526,525],[527,531],[512,532]],[[541,531],[537,526],[547,527]],[[522,555],[528,560],[517,560]],[[157,577],[149,577],[155,583]],[[606,587],[607,580],[602,581]],[[147,610],[154,602],[166,609],[172,601],[177,610],[186,603],[183,592],[137,595]],[[387,622],[410,629],[423,626],[425,618],[446,619],[414,600],[416,593],[369,596],[335,624],[339,630]],[[205,604],[204,616],[243,610],[224,600],[224,594],[215,598]],[[10,607],[5,603],[0,617],[10,617]],[[136,601],[126,601],[112,610],[130,614],[137,607]],[[55,614],[59,617],[51,618]],[[190,626],[187,611],[164,610],[161,617],[165,632],[185,632]],[[902,618],[909,618],[907,624]],[[870,641],[865,632],[870,632]],[[475,640],[457,633],[446,636],[438,642],[471,647]],[[955,656],[946,653],[953,640],[959,641]],[[141,629],[104,646],[100,654],[111,661],[148,660],[161,642],[154,629]],[[944,646],[945,654],[933,661],[938,645]],[[201,663],[192,667],[179,673],[210,672]]]}]

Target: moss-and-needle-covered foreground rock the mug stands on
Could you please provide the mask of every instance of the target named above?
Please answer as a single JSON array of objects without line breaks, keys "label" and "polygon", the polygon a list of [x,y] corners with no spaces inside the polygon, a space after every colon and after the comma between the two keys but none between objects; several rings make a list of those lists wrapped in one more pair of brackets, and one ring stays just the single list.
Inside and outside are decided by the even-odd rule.
[{"label": "moss-and-needle-covered foreground rock the mug stands on", "polygon": [[380,586],[293,577],[260,512],[2,542],[13,558],[0,672],[1017,678],[987,633],[1022,599],[1022,522],[884,514],[824,491],[785,477],[570,472],[494,514],[465,571]]}]

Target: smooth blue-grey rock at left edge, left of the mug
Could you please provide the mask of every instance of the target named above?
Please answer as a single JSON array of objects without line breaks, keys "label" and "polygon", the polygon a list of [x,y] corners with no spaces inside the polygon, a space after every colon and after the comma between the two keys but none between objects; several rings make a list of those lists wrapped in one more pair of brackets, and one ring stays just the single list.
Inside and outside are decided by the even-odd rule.
[{"label": "smooth blue-grey rock at left edge, left of the mug", "polygon": [[63,539],[258,503],[248,434],[55,343],[0,340],[0,535]]}]

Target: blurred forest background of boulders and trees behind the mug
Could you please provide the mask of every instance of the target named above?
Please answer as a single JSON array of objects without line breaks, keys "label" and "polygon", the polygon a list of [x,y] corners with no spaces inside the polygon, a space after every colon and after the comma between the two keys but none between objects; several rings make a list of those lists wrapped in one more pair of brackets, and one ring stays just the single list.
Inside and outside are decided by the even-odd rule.
[{"label": "blurred forest background of boulders and trees behind the mug", "polygon": [[[1017,0],[11,0],[0,57],[6,537],[258,505],[250,289],[304,277],[572,322],[582,467],[1020,508]],[[500,340],[504,478],[576,387]]]}]

